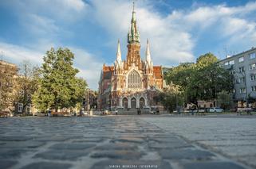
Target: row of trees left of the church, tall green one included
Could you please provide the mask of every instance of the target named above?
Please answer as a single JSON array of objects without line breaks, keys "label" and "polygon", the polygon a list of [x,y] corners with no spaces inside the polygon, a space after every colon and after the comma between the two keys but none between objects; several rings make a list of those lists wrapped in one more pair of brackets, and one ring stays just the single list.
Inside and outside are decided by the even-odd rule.
[{"label": "row of trees left of the church, tall green one included", "polygon": [[[73,67],[74,55],[68,48],[51,48],[46,52],[41,67],[33,67],[25,61],[19,67],[18,75],[12,75],[13,87],[2,87],[2,94],[9,94],[8,102],[22,103],[22,112],[32,104],[42,112],[47,109],[73,109],[81,107],[87,83],[77,78],[79,72]],[[9,78],[10,79],[10,78]],[[10,87],[9,87],[10,89]],[[6,100],[6,99],[5,99]],[[6,108],[7,101],[1,102]]]}]

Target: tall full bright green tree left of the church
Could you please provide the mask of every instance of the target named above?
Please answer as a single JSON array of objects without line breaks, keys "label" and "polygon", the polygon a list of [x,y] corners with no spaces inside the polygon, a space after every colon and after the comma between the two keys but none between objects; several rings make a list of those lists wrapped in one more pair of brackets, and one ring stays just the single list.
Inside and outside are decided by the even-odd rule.
[{"label": "tall full bright green tree left of the church", "polygon": [[87,84],[76,77],[78,70],[73,67],[74,55],[68,48],[51,48],[46,52],[41,66],[38,89],[33,94],[37,109],[73,108],[81,102]]}]

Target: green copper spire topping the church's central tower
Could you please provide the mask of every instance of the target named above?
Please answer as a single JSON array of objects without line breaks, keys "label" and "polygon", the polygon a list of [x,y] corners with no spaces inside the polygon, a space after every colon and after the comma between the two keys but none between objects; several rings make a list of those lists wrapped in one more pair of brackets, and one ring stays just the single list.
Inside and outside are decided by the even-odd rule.
[{"label": "green copper spire topping the church's central tower", "polygon": [[135,12],[135,2],[132,6],[132,20],[131,20],[131,29],[128,31],[128,44],[138,43],[140,44],[140,33],[137,29],[136,23],[136,12]]}]

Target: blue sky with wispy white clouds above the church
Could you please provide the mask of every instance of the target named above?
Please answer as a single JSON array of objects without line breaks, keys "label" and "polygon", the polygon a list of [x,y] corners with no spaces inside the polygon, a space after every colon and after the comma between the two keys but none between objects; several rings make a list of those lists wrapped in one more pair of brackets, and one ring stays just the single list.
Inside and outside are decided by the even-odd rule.
[{"label": "blue sky with wispy white clouds above the church", "polygon": [[[256,1],[136,0],[140,56],[149,40],[154,65],[195,62],[212,52],[226,55],[256,47]],[[122,60],[132,0],[0,0],[0,59],[40,66],[45,52],[69,48],[78,76],[97,90],[103,63]]]}]

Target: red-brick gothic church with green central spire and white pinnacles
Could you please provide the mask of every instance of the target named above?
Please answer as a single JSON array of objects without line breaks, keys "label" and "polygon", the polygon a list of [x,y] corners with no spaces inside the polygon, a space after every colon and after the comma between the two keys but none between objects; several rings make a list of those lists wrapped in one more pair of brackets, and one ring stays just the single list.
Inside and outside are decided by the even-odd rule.
[{"label": "red-brick gothic church with green central spire and white pinnacles", "polygon": [[140,33],[134,6],[127,48],[126,60],[122,60],[118,40],[114,65],[103,65],[99,81],[98,109],[143,109],[156,106],[153,98],[157,90],[163,88],[163,71],[161,66],[153,65],[148,41],[144,60],[140,57]]}]

